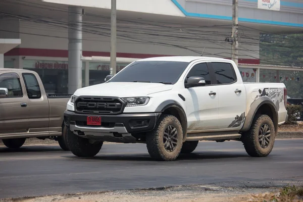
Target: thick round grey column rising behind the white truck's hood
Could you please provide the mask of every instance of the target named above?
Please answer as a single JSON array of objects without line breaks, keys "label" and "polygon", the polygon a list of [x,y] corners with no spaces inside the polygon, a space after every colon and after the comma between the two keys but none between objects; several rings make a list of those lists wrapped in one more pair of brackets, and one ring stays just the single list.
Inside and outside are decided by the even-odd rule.
[{"label": "thick round grey column rising behind the white truck's hood", "polygon": [[82,83],[82,8],[68,11],[68,93],[73,94]]}]

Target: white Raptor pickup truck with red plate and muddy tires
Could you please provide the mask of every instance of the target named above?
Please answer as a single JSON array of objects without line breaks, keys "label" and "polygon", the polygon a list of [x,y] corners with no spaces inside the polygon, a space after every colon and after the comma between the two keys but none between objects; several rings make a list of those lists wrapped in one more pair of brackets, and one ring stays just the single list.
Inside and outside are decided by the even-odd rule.
[{"label": "white Raptor pickup truck with red plate and muddy tires", "polygon": [[161,161],[200,140],[237,140],[265,157],[287,120],[283,83],[243,83],[231,60],[158,57],[135,61],[105,83],[76,90],[64,113],[67,142],[93,157],[104,141],[146,143]]}]

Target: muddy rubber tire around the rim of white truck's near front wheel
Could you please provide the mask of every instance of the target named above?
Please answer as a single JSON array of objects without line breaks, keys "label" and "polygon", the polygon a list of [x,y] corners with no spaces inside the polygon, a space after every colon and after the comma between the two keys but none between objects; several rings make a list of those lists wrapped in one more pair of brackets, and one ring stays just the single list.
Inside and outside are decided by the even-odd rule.
[{"label": "muddy rubber tire around the rim of white truck's near front wheel", "polygon": [[[177,144],[173,151],[164,147],[164,132],[167,127],[173,126],[177,130]],[[162,115],[153,131],[146,134],[146,147],[151,158],[158,161],[174,161],[178,158],[183,140],[183,131],[180,121],[172,115]]]}]

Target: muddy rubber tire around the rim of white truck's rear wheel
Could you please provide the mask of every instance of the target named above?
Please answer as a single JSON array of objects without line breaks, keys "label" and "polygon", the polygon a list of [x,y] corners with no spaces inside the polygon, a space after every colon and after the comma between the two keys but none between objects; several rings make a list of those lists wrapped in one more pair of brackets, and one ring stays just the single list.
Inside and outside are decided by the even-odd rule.
[{"label": "muddy rubber tire around the rim of white truck's rear wheel", "polygon": [[[259,132],[263,124],[267,124],[271,132],[269,144],[266,148],[262,148],[259,142]],[[275,142],[275,126],[271,118],[268,115],[256,115],[250,129],[242,134],[242,142],[249,156],[267,157],[271,153]]]}]

